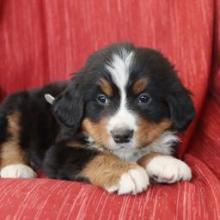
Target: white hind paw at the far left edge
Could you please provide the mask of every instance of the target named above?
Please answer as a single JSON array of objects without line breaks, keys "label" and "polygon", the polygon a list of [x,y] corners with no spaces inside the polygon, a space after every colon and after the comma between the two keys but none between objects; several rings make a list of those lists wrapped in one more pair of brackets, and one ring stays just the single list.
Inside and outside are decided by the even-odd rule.
[{"label": "white hind paw at the far left edge", "polygon": [[34,178],[36,173],[27,165],[12,164],[1,169],[1,178]]}]

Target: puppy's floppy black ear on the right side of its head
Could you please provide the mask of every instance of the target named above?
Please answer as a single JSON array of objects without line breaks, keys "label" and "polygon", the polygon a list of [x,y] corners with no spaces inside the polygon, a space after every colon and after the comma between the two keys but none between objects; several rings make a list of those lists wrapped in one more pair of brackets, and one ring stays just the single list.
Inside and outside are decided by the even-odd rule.
[{"label": "puppy's floppy black ear on the right side of its head", "polygon": [[195,117],[195,109],[190,92],[184,87],[179,88],[168,96],[167,102],[173,128],[177,131],[184,131]]}]

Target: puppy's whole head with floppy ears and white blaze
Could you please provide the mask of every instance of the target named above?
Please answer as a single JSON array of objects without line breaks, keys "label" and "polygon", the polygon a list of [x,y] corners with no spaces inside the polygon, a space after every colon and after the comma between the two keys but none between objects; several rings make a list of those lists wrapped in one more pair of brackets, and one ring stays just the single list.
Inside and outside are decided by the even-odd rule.
[{"label": "puppy's whole head with floppy ears and white blaze", "polygon": [[188,90],[158,51],[115,44],[94,53],[56,99],[57,118],[97,144],[141,148],[194,117]]}]

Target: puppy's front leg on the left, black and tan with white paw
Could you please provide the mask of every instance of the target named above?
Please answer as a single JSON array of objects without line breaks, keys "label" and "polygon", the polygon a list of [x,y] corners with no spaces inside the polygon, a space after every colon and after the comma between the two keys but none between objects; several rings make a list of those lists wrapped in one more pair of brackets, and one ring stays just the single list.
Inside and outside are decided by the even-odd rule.
[{"label": "puppy's front leg on the left, black and tan with white paw", "polygon": [[118,194],[137,194],[149,184],[146,171],[136,163],[79,146],[51,147],[46,154],[44,168],[49,177],[84,180]]}]

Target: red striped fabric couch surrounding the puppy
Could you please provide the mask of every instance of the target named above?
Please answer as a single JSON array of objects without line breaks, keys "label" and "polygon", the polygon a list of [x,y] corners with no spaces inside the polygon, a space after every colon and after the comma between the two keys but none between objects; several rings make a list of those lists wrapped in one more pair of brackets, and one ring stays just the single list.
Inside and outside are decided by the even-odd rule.
[{"label": "red striped fabric couch surrounding the puppy", "polygon": [[220,219],[220,1],[1,0],[1,98],[68,78],[111,42],[161,50],[194,96],[179,156],[193,180],[117,196],[76,182],[0,179],[0,219]]}]

